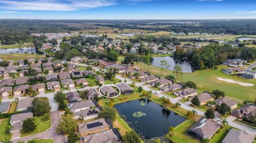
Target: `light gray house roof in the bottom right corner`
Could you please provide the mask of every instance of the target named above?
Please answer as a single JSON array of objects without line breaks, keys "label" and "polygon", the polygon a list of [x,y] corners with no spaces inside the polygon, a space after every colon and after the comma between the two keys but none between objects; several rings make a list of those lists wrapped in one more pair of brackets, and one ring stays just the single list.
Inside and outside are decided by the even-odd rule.
[{"label": "light gray house roof in the bottom right corner", "polygon": [[252,143],[254,138],[254,134],[231,128],[221,143]]}]

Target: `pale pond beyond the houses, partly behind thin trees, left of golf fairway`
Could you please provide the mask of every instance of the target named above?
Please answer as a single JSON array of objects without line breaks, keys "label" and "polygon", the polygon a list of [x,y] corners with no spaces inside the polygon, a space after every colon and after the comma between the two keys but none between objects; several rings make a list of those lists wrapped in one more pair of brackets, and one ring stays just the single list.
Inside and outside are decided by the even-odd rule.
[{"label": "pale pond beyond the houses, partly behind thin trees, left of golf fairway", "polygon": [[160,65],[162,60],[165,60],[169,65],[170,69],[169,70],[174,70],[175,65],[179,65],[182,69],[182,72],[194,72],[193,67],[188,63],[188,62],[182,62],[178,63],[173,60],[172,57],[170,56],[165,56],[165,57],[154,57],[153,60],[151,61],[151,65],[157,66],[159,68],[162,68]]}]

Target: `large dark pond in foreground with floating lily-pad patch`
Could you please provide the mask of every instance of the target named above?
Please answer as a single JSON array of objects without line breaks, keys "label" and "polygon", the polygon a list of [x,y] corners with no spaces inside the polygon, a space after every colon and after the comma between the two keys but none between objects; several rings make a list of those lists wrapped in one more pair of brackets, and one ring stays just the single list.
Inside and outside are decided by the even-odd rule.
[{"label": "large dark pond in foreground with floating lily-pad patch", "polygon": [[[130,124],[130,127],[145,139],[162,137],[168,133],[170,126],[176,127],[186,120],[184,117],[146,98],[116,104],[114,107],[119,115],[125,115],[125,120]],[[134,113],[136,112],[142,112],[143,114],[140,117],[135,117]]]}]

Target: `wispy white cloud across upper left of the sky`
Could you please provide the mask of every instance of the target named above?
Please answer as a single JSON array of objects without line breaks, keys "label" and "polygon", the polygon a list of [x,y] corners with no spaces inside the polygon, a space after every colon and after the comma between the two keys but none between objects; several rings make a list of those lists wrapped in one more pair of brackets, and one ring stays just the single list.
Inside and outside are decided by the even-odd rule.
[{"label": "wispy white cloud across upper left of the sky", "polygon": [[30,11],[75,11],[100,6],[115,5],[114,0],[66,0],[66,1],[0,1],[1,9]]}]

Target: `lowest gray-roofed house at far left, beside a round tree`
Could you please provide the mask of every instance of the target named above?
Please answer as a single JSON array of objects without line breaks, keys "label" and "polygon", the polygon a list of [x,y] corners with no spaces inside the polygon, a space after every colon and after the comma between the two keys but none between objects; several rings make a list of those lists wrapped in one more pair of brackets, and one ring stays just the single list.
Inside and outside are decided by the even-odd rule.
[{"label": "lowest gray-roofed house at far left, beside a round tree", "polygon": [[11,133],[19,132],[22,129],[23,120],[33,117],[33,112],[19,113],[11,116],[10,124],[12,126]]}]

